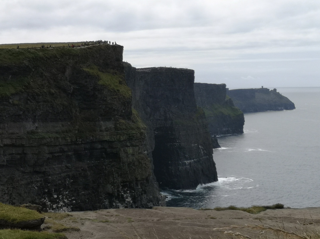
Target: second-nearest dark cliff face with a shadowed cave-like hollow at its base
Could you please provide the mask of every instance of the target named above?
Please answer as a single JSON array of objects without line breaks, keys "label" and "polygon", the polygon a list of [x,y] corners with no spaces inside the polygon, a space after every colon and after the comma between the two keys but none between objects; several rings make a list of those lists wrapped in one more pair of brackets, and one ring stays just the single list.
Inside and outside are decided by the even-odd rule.
[{"label": "second-nearest dark cliff face with a shadowed cave-like hollow at its base", "polygon": [[133,107],[150,130],[149,150],[160,187],[194,189],[217,181],[207,121],[194,97],[194,71],[125,64],[125,72]]}]

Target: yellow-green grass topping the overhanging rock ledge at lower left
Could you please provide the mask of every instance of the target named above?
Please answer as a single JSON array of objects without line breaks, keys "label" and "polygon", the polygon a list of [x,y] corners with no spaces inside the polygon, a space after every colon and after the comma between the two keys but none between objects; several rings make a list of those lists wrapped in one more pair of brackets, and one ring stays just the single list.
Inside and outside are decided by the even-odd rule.
[{"label": "yellow-green grass topping the overhanging rock ledge at lower left", "polygon": [[0,203],[0,220],[18,223],[21,221],[37,220],[43,217],[43,215],[34,210]]}]

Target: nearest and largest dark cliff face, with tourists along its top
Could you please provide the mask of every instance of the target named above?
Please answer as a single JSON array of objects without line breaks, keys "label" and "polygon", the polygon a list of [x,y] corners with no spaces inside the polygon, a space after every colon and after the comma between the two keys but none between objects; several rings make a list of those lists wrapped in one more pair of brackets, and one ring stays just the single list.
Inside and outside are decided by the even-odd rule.
[{"label": "nearest and largest dark cliff face, with tourists along its top", "polygon": [[0,197],[46,211],[161,204],[123,47],[0,51]]}]

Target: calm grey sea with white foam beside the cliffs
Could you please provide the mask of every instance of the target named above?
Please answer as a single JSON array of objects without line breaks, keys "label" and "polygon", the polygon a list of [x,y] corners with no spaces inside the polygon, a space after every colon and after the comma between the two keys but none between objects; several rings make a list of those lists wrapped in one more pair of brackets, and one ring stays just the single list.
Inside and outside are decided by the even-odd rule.
[{"label": "calm grey sea with white foam beside the cliffs", "polygon": [[218,137],[217,182],[164,190],[167,206],[320,206],[320,88],[277,88],[295,110],[244,114],[244,133]]}]

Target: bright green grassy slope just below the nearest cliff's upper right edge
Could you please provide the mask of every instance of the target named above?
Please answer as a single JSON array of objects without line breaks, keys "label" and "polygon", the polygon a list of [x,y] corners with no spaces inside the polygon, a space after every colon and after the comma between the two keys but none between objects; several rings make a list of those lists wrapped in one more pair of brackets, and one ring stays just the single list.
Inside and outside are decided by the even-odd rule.
[{"label": "bright green grassy slope just below the nearest cliff's upper right edge", "polygon": [[131,89],[126,85],[123,75],[101,72],[97,66],[90,66],[83,69],[89,74],[97,76],[99,78],[99,84],[120,93],[126,98],[131,98]]}]

